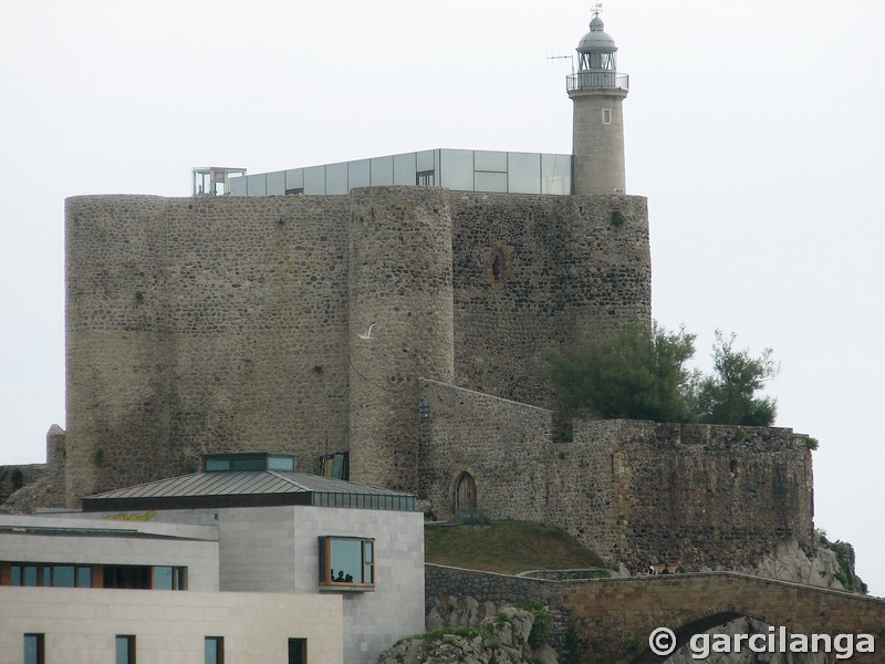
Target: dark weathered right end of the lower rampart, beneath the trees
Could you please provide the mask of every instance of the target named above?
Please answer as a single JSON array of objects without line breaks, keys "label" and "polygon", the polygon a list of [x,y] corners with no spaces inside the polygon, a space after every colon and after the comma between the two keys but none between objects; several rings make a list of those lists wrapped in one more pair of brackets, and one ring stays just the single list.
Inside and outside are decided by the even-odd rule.
[{"label": "dark weathered right end of the lower rampart, beneath the trees", "polygon": [[812,466],[789,428],[624,423],[613,459],[618,559],[740,569],[813,543]]}]

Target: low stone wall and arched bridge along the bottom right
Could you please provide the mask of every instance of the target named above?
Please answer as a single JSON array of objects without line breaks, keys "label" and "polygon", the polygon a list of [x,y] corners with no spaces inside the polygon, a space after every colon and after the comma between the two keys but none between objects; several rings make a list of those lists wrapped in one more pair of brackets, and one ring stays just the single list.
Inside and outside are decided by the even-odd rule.
[{"label": "low stone wall and arched bridge along the bottom right", "polygon": [[871,634],[877,652],[854,656],[885,662],[885,600],[733,572],[553,581],[425,564],[425,596],[428,608],[541,600],[558,650],[573,627],[581,662],[593,664],[664,661],[648,650],[655,629],[673,630],[681,646],[740,616],[806,636]]}]

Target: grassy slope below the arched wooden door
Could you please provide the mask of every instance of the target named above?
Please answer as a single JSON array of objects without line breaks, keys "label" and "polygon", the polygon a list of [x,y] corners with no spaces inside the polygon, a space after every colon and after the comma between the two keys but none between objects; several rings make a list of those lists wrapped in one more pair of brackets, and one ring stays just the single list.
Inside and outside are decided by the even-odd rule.
[{"label": "grassy slope below the arched wooden door", "polygon": [[502,574],[605,567],[566,532],[528,521],[430,526],[424,529],[424,546],[427,562]]}]

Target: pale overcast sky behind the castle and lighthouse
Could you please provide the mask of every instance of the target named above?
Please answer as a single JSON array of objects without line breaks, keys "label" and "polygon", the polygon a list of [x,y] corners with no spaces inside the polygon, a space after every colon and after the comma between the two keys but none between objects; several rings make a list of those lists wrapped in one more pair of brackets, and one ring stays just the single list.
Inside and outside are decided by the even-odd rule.
[{"label": "pale overcast sky behind the castle and lighthouse", "polygon": [[[883,0],[608,0],[654,315],[774,350],[815,523],[885,595]],[[576,0],[0,0],[0,464],[64,426],[64,198],[435,147],[571,153]]]}]

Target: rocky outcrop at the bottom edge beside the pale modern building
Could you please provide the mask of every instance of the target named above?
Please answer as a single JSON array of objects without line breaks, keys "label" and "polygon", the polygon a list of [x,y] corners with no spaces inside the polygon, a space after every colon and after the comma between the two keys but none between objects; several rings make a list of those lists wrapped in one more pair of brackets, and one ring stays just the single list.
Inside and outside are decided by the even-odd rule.
[{"label": "rocky outcrop at the bottom edge beside the pale modern building", "polygon": [[[478,621],[477,626],[440,626],[403,640],[383,653],[378,664],[555,664],[559,661],[550,646],[533,649],[529,644],[534,624],[532,613],[504,606],[479,619],[488,609],[473,601],[462,615],[468,616],[467,622]],[[433,613],[442,622],[438,611],[434,609]]]}]

